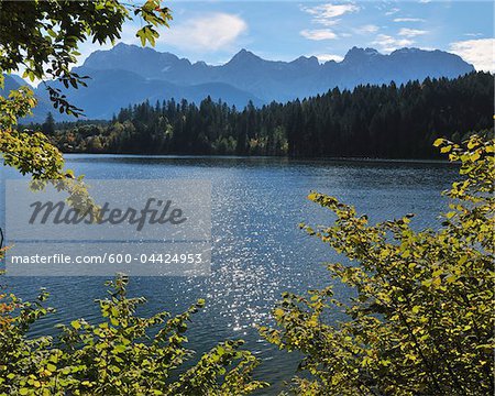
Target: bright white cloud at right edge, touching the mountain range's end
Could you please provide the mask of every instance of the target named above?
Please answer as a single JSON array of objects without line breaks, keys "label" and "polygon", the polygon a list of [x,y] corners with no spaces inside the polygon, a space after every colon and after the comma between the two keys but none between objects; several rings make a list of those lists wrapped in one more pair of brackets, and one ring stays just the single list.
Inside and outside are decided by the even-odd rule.
[{"label": "bright white cloud at right edge, touching the mountain range's end", "polygon": [[466,40],[451,43],[450,51],[473,64],[476,70],[495,72],[495,38]]}]

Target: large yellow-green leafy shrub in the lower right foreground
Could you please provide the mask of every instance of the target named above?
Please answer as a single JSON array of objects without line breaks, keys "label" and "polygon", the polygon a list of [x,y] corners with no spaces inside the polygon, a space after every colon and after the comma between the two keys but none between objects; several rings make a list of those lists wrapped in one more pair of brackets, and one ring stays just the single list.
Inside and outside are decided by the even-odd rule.
[{"label": "large yellow-green leafy shrub in the lower right foreground", "polygon": [[[331,286],[309,296],[285,294],[277,328],[262,334],[300,351],[294,378],[301,395],[491,395],[494,393],[494,141],[472,136],[464,146],[437,140],[463,180],[447,196],[438,231],[414,231],[410,216],[370,226],[351,206],[311,193],[334,226],[311,235],[345,255],[328,270],[355,290],[349,301]],[[330,324],[338,308],[346,320]]]}]

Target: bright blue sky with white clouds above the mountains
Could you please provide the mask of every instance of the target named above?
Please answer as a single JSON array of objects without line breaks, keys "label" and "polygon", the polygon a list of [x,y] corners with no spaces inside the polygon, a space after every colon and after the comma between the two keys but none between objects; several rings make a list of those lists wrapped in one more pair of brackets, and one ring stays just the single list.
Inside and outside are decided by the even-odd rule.
[{"label": "bright blue sky with white clouds above the mountains", "polygon": [[[169,1],[170,29],[155,50],[191,62],[227,63],[241,48],[273,61],[301,55],[341,61],[353,46],[388,54],[402,47],[442,50],[477,70],[495,72],[494,2],[417,1]],[[141,21],[124,25],[121,42],[139,45]],[[109,48],[110,45],[103,47]],[[84,44],[82,57],[101,47]]]}]

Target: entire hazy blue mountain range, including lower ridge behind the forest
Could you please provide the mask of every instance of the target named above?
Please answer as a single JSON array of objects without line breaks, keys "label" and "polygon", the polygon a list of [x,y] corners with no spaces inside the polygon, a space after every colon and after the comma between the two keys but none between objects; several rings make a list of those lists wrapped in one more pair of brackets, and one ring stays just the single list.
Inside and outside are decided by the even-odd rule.
[{"label": "entire hazy blue mountain range, including lower ridge behind the forest", "polygon": [[[426,77],[454,78],[473,70],[458,55],[417,48],[383,55],[373,48],[353,47],[342,62],[324,64],[315,56],[301,56],[293,62],[265,61],[242,50],[227,64],[211,66],[121,43],[112,50],[92,53],[77,68],[79,75],[91,77],[88,87],[70,89],[67,97],[88,118],[109,119],[120,108],[146,99],[154,103],[184,98],[199,103],[210,96],[243,108],[250,100],[261,106],[273,100],[302,99],[334,87],[391,81],[399,85]],[[42,87],[36,95],[46,98]],[[36,111],[35,118],[45,116],[46,112],[42,116]]]}]

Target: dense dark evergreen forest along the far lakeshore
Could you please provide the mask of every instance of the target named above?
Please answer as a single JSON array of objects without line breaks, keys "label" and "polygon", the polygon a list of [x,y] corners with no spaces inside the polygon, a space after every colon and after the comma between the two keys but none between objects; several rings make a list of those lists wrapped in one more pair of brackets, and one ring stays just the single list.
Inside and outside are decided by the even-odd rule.
[{"label": "dense dark evergreen forest along the far lakeshore", "polygon": [[[359,86],[243,110],[205,99],[130,106],[107,124],[58,124],[65,152],[292,156],[437,157],[440,136],[493,128],[494,78]],[[42,127],[46,128],[46,123]]]}]

